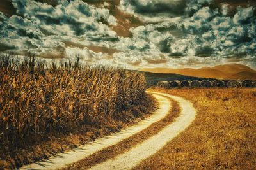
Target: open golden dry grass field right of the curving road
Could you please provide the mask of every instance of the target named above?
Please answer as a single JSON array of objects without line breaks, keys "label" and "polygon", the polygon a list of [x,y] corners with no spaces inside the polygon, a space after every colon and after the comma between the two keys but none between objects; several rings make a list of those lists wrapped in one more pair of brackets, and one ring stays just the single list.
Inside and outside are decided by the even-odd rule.
[{"label": "open golden dry grass field right of the curving road", "polygon": [[256,89],[156,89],[192,101],[192,125],[135,169],[255,169]]}]

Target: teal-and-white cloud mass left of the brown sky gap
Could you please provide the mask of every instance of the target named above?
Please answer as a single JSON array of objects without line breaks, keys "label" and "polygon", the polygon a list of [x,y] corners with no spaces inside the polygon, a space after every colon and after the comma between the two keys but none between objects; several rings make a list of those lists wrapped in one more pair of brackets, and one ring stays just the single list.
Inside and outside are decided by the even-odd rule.
[{"label": "teal-and-white cloud mass left of the brown sky gap", "polygon": [[[43,53],[65,53],[63,40],[117,41],[115,17],[105,8],[95,8],[83,1],[60,1],[56,7],[35,1],[13,0],[18,15],[10,18],[0,13],[1,51],[32,49]],[[9,42],[6,45],[6,42]],[[54,52],[58,50],[58,52]]]}]

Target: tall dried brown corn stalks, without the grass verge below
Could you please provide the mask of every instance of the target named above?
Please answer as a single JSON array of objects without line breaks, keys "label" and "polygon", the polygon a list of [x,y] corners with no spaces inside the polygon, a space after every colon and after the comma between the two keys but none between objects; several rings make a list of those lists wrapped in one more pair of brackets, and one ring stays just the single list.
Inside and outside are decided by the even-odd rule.
[{"label": "tall dried brown corn stalks, without the grass verge below", "polygon": [[145,99],[143,74],[65,60],[47,64],[35,55],[0,57],[0,145],[18,146],[68,132]]}]

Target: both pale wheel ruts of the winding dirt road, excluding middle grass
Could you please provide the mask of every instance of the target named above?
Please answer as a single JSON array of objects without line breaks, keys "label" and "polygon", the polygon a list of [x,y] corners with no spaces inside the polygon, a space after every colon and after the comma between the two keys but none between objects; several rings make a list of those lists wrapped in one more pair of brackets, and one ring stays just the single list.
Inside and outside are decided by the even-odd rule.
[{"label": "both pale wheel ruts of the winding dirt road, excluding middle grass", "polygon": [[166,143],[168,143],[168,141],[172,140],[180,132],[184,131],[184,129],[193,122],[196,116],[193,104],[181,97],[159,92],[149,93],[153,94],[157,101],[159,101],[159,109],[154,111],[150,117],[142,120],[139,124],[124,129],[118,133],[105,136],[104,138],[99,138],[96,141],[71,150],[70,152],[60,153],[48,160],[35,162],[33,164],[23,166],[20,169],[58,169],[67,166],[67,164],[84,159],[93,153],[99,152],[108,146],[115,145],[116,143],[131,137],[133,134],[143,131],[143,129],[146,129],[154,122],[158,122],[162,118],[166,117],[171,109],[171,103],[168,98],[178,101],[181,113],[180,116],[175,119],[175,122],[164,127],[162,131],[151,136],[143,143],[134,146],[128,152],[122,153],[113,159],[102,162],[101,164],[97,164],[96,166],[93,166],[92,169],[131,169],[132,167],[140,164],[141,160],[147,159],[147,157],[156,153]]}]

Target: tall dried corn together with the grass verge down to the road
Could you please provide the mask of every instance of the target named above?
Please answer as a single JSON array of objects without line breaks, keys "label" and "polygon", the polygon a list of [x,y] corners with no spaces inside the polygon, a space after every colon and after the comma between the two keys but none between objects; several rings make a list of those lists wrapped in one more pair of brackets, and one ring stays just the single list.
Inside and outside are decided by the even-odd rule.
[{"label": "tall dried corn together with the grass verge down to the road", "polygon": [[0,85],[0,169],[74,148],[154,110],[143,74],[81,66],[79,58],[47,66],[2,55]]}]

